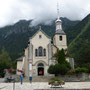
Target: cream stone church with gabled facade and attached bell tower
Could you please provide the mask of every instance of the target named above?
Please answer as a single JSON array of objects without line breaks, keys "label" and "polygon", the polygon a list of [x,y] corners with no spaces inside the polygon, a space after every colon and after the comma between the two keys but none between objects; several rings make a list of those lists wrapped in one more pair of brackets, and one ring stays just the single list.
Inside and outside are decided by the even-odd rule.
[{"label": "cream stone church with gabled facade and attached bell tower", "polygon": [[[17,69],[23,70],[25,76],[48,76],[49,66],[55,64],[53,55],[58,49],[67,49],[67,37],[62,29],[62,21],[59,15],[55,24],[56,30],[53,40],[41,27],[29,38],[30,43],[25,49],[24,56],[17,59]],[[74,61],[70,58],[67,58],[67,61],[74,68]],[[17,74],[20,75],[19,72]]]}]

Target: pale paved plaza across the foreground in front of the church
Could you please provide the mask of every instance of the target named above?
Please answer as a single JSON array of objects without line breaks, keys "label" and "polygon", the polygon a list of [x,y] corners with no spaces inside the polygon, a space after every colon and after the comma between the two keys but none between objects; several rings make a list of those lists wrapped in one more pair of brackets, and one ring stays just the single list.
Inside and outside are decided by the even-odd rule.
[{"label": "pale paved plaza across the foreground in front of the church", "polygon": [[62,89],[88,89],[90,90],[90,82],[66,82],[62,88],[51,88],[48,82],[33,82],[33,83],[15,83],[15,89],[13,89],[13,83],[0,83],[0,90],[37,90],[37,89],[51,89],[51,90],[62,90]]}]

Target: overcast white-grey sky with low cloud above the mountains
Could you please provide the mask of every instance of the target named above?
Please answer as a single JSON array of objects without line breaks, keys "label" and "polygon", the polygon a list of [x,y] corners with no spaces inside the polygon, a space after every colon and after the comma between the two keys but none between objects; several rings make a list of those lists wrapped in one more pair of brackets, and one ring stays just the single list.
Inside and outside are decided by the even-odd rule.
[{"label": "overcast white-grey sky with low cloud above the mountains", "polygon": [[0,0],[0,27],[22,19],[34,19],[32,25],[48,24],[57,17],[81,20],[90,13],[90,0]]}]

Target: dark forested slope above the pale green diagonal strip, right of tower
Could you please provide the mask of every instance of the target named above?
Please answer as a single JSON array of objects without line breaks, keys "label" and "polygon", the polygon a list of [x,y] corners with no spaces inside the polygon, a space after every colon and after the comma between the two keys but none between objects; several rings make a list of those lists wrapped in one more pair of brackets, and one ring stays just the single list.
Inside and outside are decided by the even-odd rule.
[{"label": "dark forested slope above the pale green diagonal strip, right of tower", "polygon": [[67,37],[68,37],[68,43],[70,43],[74,38],[77,37],[77,35],[82,31],[85,25],[87,25],[87,22],[89,21],[90,14],[86,16],[81,22],[79,22],[77,25],[70,27],[67,29]]}]

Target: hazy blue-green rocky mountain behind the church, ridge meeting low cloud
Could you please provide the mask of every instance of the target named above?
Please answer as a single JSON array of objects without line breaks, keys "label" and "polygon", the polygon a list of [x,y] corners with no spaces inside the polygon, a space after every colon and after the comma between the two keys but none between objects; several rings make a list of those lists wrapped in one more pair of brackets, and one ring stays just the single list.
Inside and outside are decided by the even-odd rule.
[{"label": "hazy blue-green rocky mountain behind the church, ridge meeting low cloud", "polygon": [[[67,18],[61,18],[63,29],[66,32],[68,28],[75,26],[79,21],[71,21]],[[28,45],[29,37],[31,37],[42,26],[42,30],[50,37],[55,33],[55,20],[52,25],[40,24],[35,27],[29,27],[32,20],[20,20],[14,25],[0,28],[0,51],[4,47],[12,59],[23,55],[24,48]]]}]

